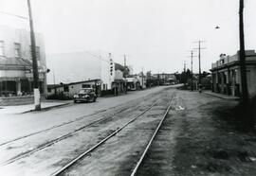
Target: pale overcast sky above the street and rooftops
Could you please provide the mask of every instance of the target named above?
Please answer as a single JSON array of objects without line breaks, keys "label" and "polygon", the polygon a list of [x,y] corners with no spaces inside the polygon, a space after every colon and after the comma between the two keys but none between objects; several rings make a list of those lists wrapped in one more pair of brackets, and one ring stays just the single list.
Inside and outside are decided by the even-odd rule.
[{"label": "pale overcast sky above the street and rooftops", "polygon": [[[206,71],[221,53],[239,49],[239,0],[31,0],[31,5],[46,55],[99,50],[120,63],[126,54],[135,72],[174,73],[184,62],[191,68],[189,50],[198,40],[205,41]],[[246,49],[256,49],[255,9],[255,0],[245,0]],[[0,0],[0,11],[27,16],[27,0]],[[0,25],[28,28],[27,20],[1,13]],[[198,58],[193,63],[198,72]]]}]

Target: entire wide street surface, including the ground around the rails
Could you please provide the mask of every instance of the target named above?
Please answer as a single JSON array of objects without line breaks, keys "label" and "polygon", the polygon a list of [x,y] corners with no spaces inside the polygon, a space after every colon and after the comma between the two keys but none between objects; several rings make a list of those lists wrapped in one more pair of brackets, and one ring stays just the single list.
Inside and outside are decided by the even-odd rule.
[{"label": "entire wide street surface, including the ground around the rails", "polygon": [[[223,142],[215,141],[216,136],[228,140],[233,134],[217,129],[217,111],[236,103],[197,92],[157,87],[122,97],[99,98],[97,103],[73,104],[42,113],[9,114],[1,117],[6,123],[1,124],[1,131],[7,135],[0,140],[0,173],[131,175],[164,116],[159,132],[137,167],[137,175],[255,173],[253,162],[243,170],[227,167],[225,163],[219,165],[223,160],[209,155],[218,150],[209,146]],[[167,110],[170,111],[165,115]],[[16,126],[7,128],[9,121]],[[233,144],[232,140],[229,149],[240,149],[238,144],[242,143]],[[255,148],[250,144],[247,149]],[[235,161],[234,166],[241,166],[241,162],[231,161]]]}]

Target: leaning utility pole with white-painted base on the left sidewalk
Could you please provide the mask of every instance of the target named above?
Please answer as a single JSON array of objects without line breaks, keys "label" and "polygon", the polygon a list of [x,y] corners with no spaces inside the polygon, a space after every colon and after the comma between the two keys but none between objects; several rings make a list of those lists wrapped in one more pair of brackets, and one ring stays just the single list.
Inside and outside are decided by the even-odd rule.
[{"label": "leaning utility pole with white-painted base on the left sidewalk", "polygon": [[38,66],[37,66],[37,58],[36,58],[35,33],[34,33],[32,9],[31,9],[31,5],[30,5],[30,0],[27,0],[27,8],[28,8],[28,15],[29,15],[31,53],[32,53],[32,65],[33,65],[34,105],[35,105],[35,111],[40,111],[41,110],[41,102],[40,102],[40,91],[39,91],[39,76],[38,76]]}]

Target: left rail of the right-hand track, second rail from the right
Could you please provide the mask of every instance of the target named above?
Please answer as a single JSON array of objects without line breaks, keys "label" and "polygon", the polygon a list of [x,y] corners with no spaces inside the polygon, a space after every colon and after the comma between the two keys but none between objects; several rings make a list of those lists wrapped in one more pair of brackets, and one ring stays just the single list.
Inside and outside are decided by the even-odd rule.
[{"label": "left rail of the right-hand track, second rail from the right", "polygon": [[90,153],[93,150],[96,150],[98,147],[100,147],[104,142],[106,142],[108,139],[110,139],[111,137],[113,137],[114,135],[116,135],[118,132],[120,132],[122,129],[124,129],[126,126],[128,126],[130,123],[134,122],[139,116],[141,116],[142,114],[145,114],[146,112],[148,112],[150,109],[152,109],[155,104],[158,102],[159,100],[156,100],[155,103],[153,103],[149,108],[147,108],[146,110],[144,110],[142,113],[137,114],[134,118],[132,118],[131,120],[129,120],[127,123],[125,123],[123,126],[121,126],[120,128],[118,128],[115,132],[112,132],[111,134],[109,134],[108,136],[106,136],[104,139],[102,139],[99,143],[97,143],[95,146],[93,146],[92,148],[90,148],[89,150],[85,150],[84,152],[82,152],[82,154],[80,154],[79,156],[77,156],[75,159],[71,160],[68,164],[66,164],[64,167],[60,168],[59,170],[57,170],[56,172],[52,173],[50,176],[58,176],[62,173],[64,173],[64,171],[66,169],[68,169],[69,167],[72,167],[75,163],[77,163],[80,159],[82,159],[82,157],[84,157],[85,155],[87,155],[88,153]]}]

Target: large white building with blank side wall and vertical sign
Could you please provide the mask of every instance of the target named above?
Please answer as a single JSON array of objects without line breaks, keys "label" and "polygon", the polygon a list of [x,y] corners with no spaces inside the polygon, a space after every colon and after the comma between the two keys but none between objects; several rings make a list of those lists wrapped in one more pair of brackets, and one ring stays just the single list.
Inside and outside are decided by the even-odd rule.
[{"label": "large white building with blank side wall and vertical sign", "polygon": [[51,72],[47,75],[49,84],[60,84],[101,80],[101,90],[111,90],[115,80],[115,63],[111,54],[97,52],[74,52],[47,56]]}]

